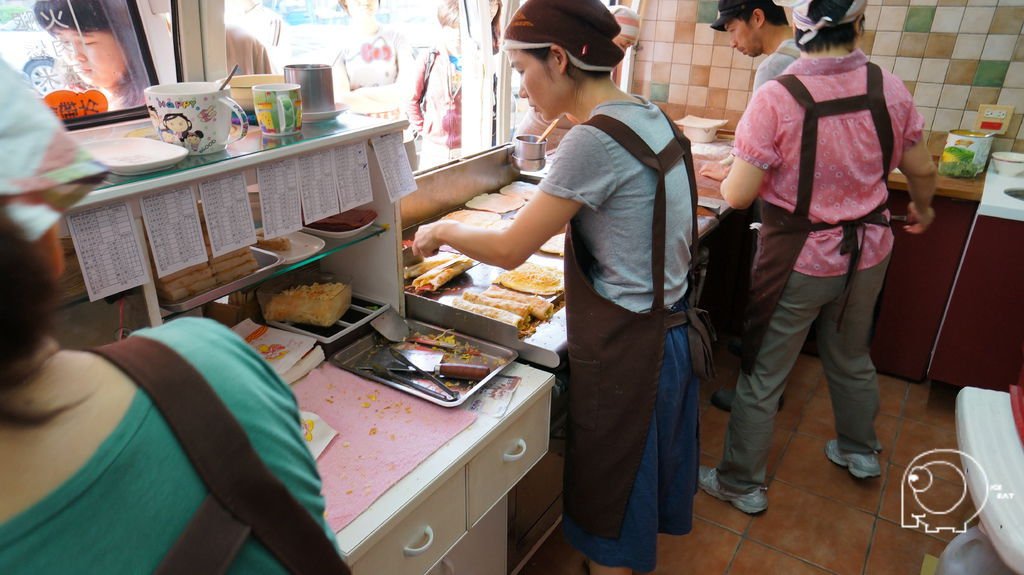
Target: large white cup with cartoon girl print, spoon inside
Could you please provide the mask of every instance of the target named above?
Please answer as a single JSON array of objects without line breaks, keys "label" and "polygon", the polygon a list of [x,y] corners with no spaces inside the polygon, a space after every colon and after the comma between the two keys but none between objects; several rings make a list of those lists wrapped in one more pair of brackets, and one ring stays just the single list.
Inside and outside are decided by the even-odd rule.
[{"label": "large white cup with cartoon girl print, spoon inside", "polygon": [[[249,132],[245,110],[228,93],[213,82],[161,84],[145,89],[145,103],[160,139],[191,154],[215,153]],[[242,127],[233,137],[231,115]]]}]

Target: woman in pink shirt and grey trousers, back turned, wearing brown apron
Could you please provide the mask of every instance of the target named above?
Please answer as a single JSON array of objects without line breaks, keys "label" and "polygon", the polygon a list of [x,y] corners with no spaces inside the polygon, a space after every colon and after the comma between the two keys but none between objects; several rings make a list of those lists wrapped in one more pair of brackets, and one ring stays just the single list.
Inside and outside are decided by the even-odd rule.
[{"label": "woman in pink shirt and grey trousers, back turned, wearing brown apron", "polygon": [[828,460],[878,477],[879,385],[869,338],[889,265],[890,170],[906,174],[906,230],[934,219],[935,166],[924,120],[903,82],[856,48],[866,0],[797,0],[801,57],[754,94],[736,129],[722,195],[736,209],[763,201],[751,279],[742,372],[722,460],[700,487],[755,514],[768,506],[765,470],[778,398],[811,322],[836,415]]}]

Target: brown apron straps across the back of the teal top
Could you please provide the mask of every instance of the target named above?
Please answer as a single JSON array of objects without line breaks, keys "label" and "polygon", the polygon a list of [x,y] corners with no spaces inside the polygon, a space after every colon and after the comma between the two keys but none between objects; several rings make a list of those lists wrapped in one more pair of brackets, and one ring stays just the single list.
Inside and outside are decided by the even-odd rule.
[{"label": "brown apron straps across the back of the teal top", "polygon": [[225,573],[250,536],[291,573],[350,573],[321,525],[267,470],[245,430],[187,361],[146,338],[92,352],[150,395],[210,490],[155,573]]}]

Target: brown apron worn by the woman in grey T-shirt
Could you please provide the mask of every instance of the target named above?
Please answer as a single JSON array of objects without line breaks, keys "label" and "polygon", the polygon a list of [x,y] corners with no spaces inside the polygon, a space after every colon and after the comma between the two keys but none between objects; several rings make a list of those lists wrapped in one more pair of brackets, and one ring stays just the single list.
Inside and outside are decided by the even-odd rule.
[{"label": "brown apron worn by the woman in grey T-shirt", "polygon": [[[665,355],[665,336],[688,324],[694,371],[711,367],[711,329],[695,307],[673,312],[665,305],[666,190],[665,176],[686,163],[690,180],[696,261],[696,182],[690,143],[673,127],[675,139],[654,153],[626,124],[595,116],[587,125],[607,133],[658,176],[651,235],[651,277],[654,299],[650,311],[637,313],[598,294],[591,285],[592,254],[579,230],[565,234],[565,305],[567,308],[569,431],[565,457],[565,513],[588,533],[617,538],[637,470],[647,440]],[[639,230],[638,230],[639,232]],[[693,278],[690,278],[690,294]]]}]

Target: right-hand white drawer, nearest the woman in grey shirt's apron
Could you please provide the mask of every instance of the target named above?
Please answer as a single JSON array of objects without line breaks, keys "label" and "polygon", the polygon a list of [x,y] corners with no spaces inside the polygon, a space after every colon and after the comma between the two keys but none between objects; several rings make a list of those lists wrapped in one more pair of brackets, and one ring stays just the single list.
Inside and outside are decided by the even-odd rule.
[{"label": "right-hand white drawer, nearest the woman in grey shirt's apron", "polygon": [[549,393],[469,462],[470,527],[548,451],[550,417]]}]

